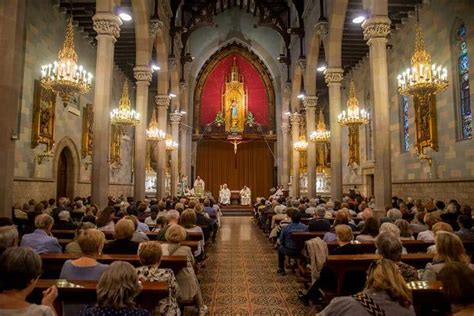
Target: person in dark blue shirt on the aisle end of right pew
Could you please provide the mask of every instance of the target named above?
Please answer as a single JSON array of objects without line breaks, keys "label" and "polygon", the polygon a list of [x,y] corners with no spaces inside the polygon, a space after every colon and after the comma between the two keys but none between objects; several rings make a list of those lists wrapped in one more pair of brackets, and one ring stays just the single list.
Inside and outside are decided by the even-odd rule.
[{"label": "person in dark blue shirt on the aisle end of right pew", "polygon": [[298,249],[293,238],[292,232],[307,231],[308,226],[300,223],[301,213],[297,210],[291,212],[291,224],[282,229],[280,234],[280,247],[278,248],[278,273],[285,275],[285,257],[297,256],[301,249]]}]

